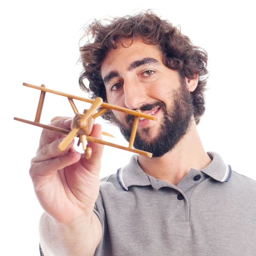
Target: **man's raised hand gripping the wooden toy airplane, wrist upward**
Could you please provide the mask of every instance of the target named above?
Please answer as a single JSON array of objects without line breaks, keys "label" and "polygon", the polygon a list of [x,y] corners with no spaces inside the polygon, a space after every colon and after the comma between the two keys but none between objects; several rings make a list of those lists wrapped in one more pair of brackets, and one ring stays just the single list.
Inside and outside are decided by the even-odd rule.
[{"label": "man's raised hand gripping the wooden toy airplane, wrist upward", "polygon": [[[70,129],[70,124],[71,119],[67,117],[55,117],[50,125]],[[101,138],[101,134],[101,125],[95,124],[90,135]],[[58,150],[64,136],[44,129],[29,170],[39,203],[58,224],[91,218],[99,195],[99,171],[104,147],[88,142],[92,156],[87,160],[84,154],[74,149],[74,140],[65,151]]]}]

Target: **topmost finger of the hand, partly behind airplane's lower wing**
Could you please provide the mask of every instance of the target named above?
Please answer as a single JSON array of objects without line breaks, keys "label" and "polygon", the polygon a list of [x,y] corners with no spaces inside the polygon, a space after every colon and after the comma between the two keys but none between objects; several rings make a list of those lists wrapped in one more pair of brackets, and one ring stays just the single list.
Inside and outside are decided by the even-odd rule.
[{"label": "topmost finger of the hand, partly behind airplane's lower wing", "polygon": [[[72,119],[70,117],[60,117],[60,118],[55,117],[55,118],[52,119],[54,121],[52,121],[50,125],[70,130],[70,125],[72,122]],[[65,137],[65,134],[43,129],[41,133],[40,141],[39,141],[38,151],[41,150],[45,145],[52,143],[54,140],[63,138],[63,137]]]}]

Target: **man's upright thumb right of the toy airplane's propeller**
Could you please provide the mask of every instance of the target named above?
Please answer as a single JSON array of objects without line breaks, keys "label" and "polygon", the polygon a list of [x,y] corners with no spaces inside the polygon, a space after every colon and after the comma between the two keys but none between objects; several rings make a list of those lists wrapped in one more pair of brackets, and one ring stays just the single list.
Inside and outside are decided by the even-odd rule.
[{"label": "man's upright thumb right of the toy airplane's propeller", "polygon": [[[102,140],[102,127],[100,124],[93,125],[93,130],[90,136],[101,139]],[[100,169],[101,166],[101,157],[104,149],[104,145],[95,143],[92,141],[88,141],[87,147],[92,148],[92,155],[90,159],[86,159],[84,155],[82,155],[82,164],[84,166],[90,165],[90,169]]]}]

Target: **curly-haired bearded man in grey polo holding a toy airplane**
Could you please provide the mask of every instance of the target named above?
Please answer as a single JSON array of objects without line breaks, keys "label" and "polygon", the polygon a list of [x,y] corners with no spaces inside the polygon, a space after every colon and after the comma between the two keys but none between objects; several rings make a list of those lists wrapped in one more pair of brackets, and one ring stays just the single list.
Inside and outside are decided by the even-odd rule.
[{"label": "curly-haired bearded man in grey polo holding a toy airplane", "polygon": [[[152,114],[140,119],[130,163],[99,181],[102,145],[87,160],[62,135],[43,131],[30,175],[45,210],[40,243],[48,255],[253,255],[256,182],[206,152],[196,125],[204,114],[206,52],[152,12],[88,27],[83,79],[93,98]],[[108,111],[128,140],[133,116]],[[53,125],[70,127],[67,118]],[[92,136],[100,137],[94,125]]]}]

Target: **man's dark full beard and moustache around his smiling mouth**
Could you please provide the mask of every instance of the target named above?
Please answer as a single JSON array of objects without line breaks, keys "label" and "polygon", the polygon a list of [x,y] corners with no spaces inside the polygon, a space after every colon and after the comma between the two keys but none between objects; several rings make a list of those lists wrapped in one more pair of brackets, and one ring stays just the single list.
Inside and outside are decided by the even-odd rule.
[{"label": "man's dark full beard and moustache around his smiling mouth", "polygon": [[[175,145],[184,137],[191,125],[193,116],[192,97],[184,80],[181,81],[180,89],[173,92],[172,99],[173,106],[168,110],[161,101],[141,106],[141,111],[149,111],[158,106],[161,107],[160,111],[163,112],[163,119],[158,134],[153,141],[142,139],[137,133],[134,140],[134,148],[151,152],[153,154],[152,157],[162,157],[167,152],[172,151]],[[129,128],[126,128],[115,116],[112,119],[113,124],[119,127],[120,132],[127,141],[131,136],[133,120],[134,116],[129,114],[126,116],[125,121],[129,125]],[[150,127],[142,128],[142,132],[149,137]]]}]

